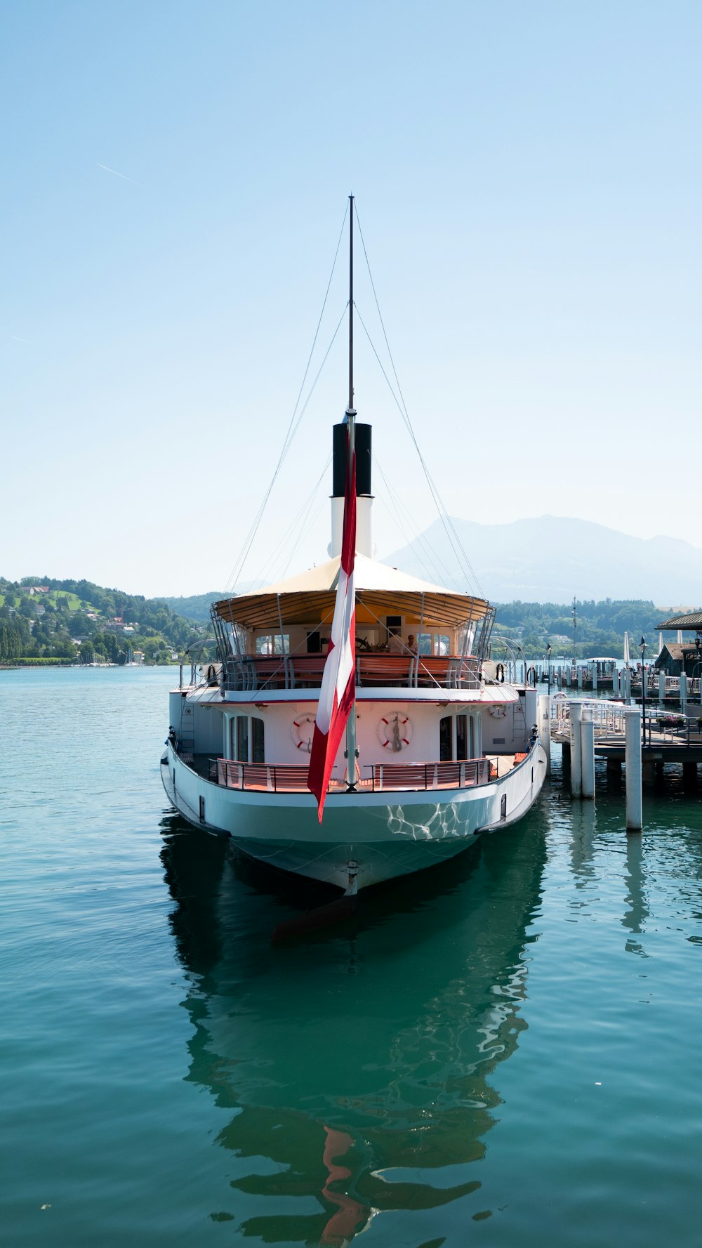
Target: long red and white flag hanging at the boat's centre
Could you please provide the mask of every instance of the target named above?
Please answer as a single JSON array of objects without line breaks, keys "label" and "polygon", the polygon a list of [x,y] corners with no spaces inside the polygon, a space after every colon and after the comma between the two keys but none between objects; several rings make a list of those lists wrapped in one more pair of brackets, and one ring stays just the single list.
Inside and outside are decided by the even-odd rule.
[{"label": "long red and white flag hanging at the boat's centre", "polygon": [[[348,432],[347,432],[348,439]],[[348,448],[348,441],[347,441]],[[355,559],[355,453],[350,474],[347,473],[344,497],[344,532],[342,538],[342,564],[334,604],[334,620],[329,639],[329,653],[324,664],[319,705],[312,738],[307,787],[317,797],[319,822],[324,812],[324,800],[329,775],[344,735],[355,696],[355,593],[353,568]],[[354,775],[355,759],[348,760],[349,776]]]}]

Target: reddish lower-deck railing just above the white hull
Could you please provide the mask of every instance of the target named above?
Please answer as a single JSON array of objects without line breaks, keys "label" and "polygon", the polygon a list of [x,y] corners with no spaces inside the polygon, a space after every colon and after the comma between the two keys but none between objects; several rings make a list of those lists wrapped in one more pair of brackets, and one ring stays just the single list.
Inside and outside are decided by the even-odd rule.
[{"label": "reddish lower-deck railing just above the white hull", "polygon": [[[525,756],[525,755],[524,755]],[[521,761],[520,755],[515,763]],[[234,763],[232,759],[213,759],[217,784],[227,789],[247,789],[257,792],[307,792],[308,768],[298,764],[273,765],[268,763]],[[496,779],[494,764],[489,759],[468,759],[465,763],[372,763],[364,769],[360,787],[373,792],[473,789]],[[342,776],[332,775],[329,792],[344,792],[348,785]]]}]

